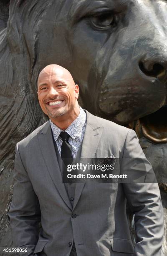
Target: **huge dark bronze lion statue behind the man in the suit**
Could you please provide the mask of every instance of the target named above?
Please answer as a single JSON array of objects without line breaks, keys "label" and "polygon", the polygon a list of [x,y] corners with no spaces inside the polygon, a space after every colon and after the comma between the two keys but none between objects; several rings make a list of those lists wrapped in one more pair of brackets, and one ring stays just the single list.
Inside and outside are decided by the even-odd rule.
[{"label": "huge dark bronze lion statue behind the man in the suit", "polygon": [[12,243],[7,212],[15,144],[46,121],[37,77],[48,64],[71,72],[83,108],[137,132],[159,181],[167,225],[167,2],[1,0],[1,246]]}]

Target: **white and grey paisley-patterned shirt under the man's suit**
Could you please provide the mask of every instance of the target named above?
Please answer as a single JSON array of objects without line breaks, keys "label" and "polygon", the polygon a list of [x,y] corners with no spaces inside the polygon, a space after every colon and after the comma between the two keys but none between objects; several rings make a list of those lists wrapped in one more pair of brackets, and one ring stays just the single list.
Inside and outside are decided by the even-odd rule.
[{"label": "white and grey paisley-patterned shirt under the man's suit", "polygon": [[[59,135],[63,130],[58,128],[51,120],[50,120],[50,123],[51,123],[53,138],[56,141],[58,151],[61,155],[62,139]],[[85,133],[85,127],[86,127],[86,113],[80,107],[80,113],[79,113],[78,117],[66,129],[66,133],[68,133],[68,135],[70,136],[68,139],[68,142],[71,145],[73,158],[76,158],[78,148],[81,145],[81,142],[83,140],[83,136]]]}]

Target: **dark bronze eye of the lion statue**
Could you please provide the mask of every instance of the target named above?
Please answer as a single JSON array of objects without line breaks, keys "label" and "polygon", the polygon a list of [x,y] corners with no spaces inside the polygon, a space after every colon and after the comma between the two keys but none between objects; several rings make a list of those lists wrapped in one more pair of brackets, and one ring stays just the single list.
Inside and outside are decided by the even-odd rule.
[{"label": "dark bronze eye of the lion statue", "polygon": [[109,28],[115,25],[115,15],[111,13],[106,13],[103,15],[98,15],[91,17],[91,23],[96,28]]}]

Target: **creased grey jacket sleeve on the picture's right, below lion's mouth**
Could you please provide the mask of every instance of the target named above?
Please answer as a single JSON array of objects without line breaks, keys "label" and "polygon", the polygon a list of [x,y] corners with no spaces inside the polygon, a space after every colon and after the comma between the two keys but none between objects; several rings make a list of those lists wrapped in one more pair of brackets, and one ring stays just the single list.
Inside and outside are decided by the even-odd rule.
[{"label": "creased grey jacket sleeve on the picture's right, below lion's mouth", "polygon": [[[135,159],[138,161],[137,165],[134,164]],[[129,166],[128,169],[127,166]],[[137,236],[134,256],[160,256],[164,223],[159,187],[156,178],[153,178],[155,177],[154,171],[142,151],[136,133],[129,130],[124,145],[122,168],[126,169],[124,169],[124,173],[126,171],[128,173],[129,169],[131,172],[137,172],[138,168],[141,173],[141,166],[143,166],[145,183],[131,182],[123,184],[127,203],[134,213]]]}]

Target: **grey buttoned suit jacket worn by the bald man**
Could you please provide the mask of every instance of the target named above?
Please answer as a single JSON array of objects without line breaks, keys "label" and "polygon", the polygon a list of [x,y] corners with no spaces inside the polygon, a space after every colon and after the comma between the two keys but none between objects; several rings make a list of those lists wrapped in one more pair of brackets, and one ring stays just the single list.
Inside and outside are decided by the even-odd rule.
[{"label": "grey buttoned suit jacket worn by the bald man", "polygon": [[[87,111],[86,115],[81,158],[114,154],[122,159],[124,168],[124,159],[136,157],[144,159],[144,172],[152,172],[133,130]],[[130,162],[129,166],[133,168]],[[135,248],[127,222],[127,203],[134,213]],[[14,246],[29,248],[27,255],[44,252],[47,256],[69,256],[68,243],[73,240],[78,256],[160,256],[161,252],[164,227],[158,184],[77,183],[72,209],[49,121],[16,145],[9,217]]]}]

